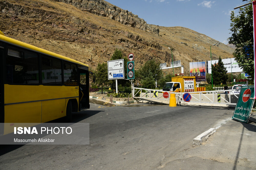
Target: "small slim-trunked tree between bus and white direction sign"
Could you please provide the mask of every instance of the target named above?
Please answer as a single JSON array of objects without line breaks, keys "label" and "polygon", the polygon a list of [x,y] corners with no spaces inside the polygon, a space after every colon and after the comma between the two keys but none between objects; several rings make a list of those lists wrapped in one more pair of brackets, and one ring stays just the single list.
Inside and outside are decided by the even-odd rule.
[{"label": "small slim-trunked tree between bus and white direction sign", "polygon": [[101,85],[101,94],[103,94],[103,84],[105,84],[108,81],[107,63],[99,63],[96,70],[96,83]]}]

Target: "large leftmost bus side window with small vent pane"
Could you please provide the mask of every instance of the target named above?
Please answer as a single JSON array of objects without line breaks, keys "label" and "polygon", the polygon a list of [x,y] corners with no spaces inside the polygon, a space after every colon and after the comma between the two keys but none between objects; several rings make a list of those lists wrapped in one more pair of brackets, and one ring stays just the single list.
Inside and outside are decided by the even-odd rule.
[{"label": "large leftmost bus side window with small vent pane", "polygon": [[39,84],[38,56],[29,51],[8,48],[6,81],[8,84]]}]

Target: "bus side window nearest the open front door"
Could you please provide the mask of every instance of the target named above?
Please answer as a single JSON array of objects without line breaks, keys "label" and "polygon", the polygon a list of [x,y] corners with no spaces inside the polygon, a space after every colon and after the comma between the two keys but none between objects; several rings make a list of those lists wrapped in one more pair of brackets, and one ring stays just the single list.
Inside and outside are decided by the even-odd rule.
[{"label": "bus side window nearest the open front door", "polygon": [[64,62],[64,85],[65,86],[77,86],[77,66]]}]

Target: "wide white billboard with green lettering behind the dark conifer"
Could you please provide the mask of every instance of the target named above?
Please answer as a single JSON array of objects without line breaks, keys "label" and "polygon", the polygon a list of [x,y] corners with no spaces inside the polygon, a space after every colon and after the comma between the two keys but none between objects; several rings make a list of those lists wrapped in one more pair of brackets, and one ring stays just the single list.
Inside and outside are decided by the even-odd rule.
[{"label": "wide white billboard with green lettering behind the dark conifer", "polygon": [[[207,72],[208,73],[211,73],[211,63],[212,63],[212,65],[215,65],[215,63],[218,63],[218,61],[219,60],[212,60],[212,62],[207,61]],[[222,62],[224,64],[224,67],[226,67],[228,73],[231,73],[231,69],[232,69],[232,73],[243,72],[243,69],[238,66],[238,62],[235,60],[235,58],[222,59]]]}]

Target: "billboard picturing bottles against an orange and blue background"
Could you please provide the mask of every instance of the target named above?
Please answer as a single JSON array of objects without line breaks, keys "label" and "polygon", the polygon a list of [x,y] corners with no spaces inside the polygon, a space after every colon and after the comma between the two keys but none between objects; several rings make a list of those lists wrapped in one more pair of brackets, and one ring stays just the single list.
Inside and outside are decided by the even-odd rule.
[{"label": "billboard picturing bottles against an orange and blue background", "polygon": [[189,63],[190,76],[196,76],[196,82],[206,81],[205,61]]}]

